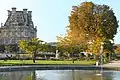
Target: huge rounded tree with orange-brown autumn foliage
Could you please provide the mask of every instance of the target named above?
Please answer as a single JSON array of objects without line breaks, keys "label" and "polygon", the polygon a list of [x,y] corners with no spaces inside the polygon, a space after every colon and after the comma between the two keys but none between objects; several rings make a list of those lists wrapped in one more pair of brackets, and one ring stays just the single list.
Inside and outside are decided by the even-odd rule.
[{"label": "huge rounded tree with orange-brown autumn foliage", "polygon": [[[114,40],[117,28],[118,21],[108,5],[83,2],[78,6],[73,6],[69,16],[67,35],[58,38],[58,42],[63,45],[66,43],[79,45],[83,47],[84,51],[89,50],[89,42],[91,42],[91,52],[99,55],[101,42]],[[105,48],[110,50],[109,46],[105,46]]]}]

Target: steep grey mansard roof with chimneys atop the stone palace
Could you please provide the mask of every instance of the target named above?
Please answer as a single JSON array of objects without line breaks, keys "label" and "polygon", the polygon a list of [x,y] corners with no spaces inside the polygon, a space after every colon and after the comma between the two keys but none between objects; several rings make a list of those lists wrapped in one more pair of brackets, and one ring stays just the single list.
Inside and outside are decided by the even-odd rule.
[{"label": "steep grey mansard roof with chimneys atop the stone palace", "polygon": [[8,10],[8,18],[4,26],[6,27],[10,26],[11,22],[14,22],[14,24],[16,23],[34,26],[31,19],[31,12],[32,11],[27,11],[27,9],[23,9],[23,11],[16,11],[16,8],[12,8],[12,11]]}]

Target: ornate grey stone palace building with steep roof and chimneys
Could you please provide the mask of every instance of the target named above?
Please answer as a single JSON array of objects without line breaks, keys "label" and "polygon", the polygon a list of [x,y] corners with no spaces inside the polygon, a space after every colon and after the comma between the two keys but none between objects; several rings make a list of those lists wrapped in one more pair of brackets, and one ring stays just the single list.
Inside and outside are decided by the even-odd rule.
[{"label": "ornate grey stone palace building with steep roof and chimneys", "polygon": [[30,40],[37,37],[37,28],[32,21],[32,11],[8,10],[8,18],[0,27],[0,44],[17,44],[19,40]]}]

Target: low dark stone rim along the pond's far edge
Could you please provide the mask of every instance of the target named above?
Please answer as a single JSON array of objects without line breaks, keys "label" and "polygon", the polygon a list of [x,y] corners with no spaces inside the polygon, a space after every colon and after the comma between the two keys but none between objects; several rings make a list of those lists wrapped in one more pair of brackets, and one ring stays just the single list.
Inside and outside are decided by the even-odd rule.
[{"label": "low dark stone rim along the pond's far edge", "polygon": [[[100,66],[80,66],[80,65],[23,65],[23,66],[1,66],[0,72],[19,70],[101,70]],[[102,67],[103,70],[112,70]]]}]

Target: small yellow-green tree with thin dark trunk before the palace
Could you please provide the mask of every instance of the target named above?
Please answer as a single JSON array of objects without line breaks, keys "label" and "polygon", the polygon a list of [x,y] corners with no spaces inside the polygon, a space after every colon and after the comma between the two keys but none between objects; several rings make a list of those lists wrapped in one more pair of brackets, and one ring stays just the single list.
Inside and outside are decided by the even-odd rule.
[{"label": "small yellow-green tree with thin dark trunk before the palace", "polygon": [[43,51],[44,44],[39,38],[33,38],[30,41],[20,40],[19,48],[24,50],[26,53],[33,55],[33,62],[35,63],[36,54],[38,51]]}]

